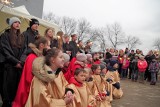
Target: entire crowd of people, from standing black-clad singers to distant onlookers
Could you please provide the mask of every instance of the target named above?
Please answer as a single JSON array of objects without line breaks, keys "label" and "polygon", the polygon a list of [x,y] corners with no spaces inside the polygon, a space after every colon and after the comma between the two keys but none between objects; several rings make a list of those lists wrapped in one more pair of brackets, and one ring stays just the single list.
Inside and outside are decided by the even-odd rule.
[{"label": "entire crowd of people, from standing black-clad singers to distant onlookers", "polygon": [[10,28],[0,36],[2,107],[111,107],[123,96],[121,79],[156,84],[158,52],[91,53],[92,42],[85,46],[76,34],[48,28],[40,35],[37,19],[22,33],[19,18],[7,23]]}]

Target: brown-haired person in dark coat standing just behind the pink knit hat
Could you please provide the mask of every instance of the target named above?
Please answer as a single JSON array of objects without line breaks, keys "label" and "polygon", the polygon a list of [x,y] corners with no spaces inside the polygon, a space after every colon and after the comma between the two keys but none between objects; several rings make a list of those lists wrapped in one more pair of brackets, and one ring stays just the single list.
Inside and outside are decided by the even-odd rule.
[{"label": "brown-haired person in dark coat standing just behind the pink knit hat", "polygon": [[72,37],[72,41],[69,42],[69,46],[70,46],[70,49],[71,49],[71,59],[72,59],[73,57],[76,56],[76,54],[78,52],[78,46],[77,46],[77,43],[76,43],[77,35],[73,34],[73,35],[71,35],[71,37]]}]

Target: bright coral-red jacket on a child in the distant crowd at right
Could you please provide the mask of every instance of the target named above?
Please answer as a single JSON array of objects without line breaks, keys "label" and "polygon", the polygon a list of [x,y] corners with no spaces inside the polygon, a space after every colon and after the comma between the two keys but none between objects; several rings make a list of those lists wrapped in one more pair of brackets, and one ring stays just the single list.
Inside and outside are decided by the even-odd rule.
[{"label": "bright coral-red jacket on a child in the distant crowd at right", "polygon": [[148,64],[147,61],[138,60],[138,70],[139,72],[145,72]]}]

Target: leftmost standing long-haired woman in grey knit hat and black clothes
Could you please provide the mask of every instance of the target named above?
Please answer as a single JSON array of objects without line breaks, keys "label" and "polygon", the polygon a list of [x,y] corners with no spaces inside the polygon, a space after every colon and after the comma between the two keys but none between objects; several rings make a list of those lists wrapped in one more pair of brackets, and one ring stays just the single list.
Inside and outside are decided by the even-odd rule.
[{"label": "leftmost standing long-haired woman in grey knit hat and black clothes", "polygon": [[23,53],[24,36],[20,34],[21,21],[17,17],[7,19],[11,26],[1,35],[1,46],[5,56],[3,76],[3,105],[11,107],[16,95],[22,71],[20,57]]}]

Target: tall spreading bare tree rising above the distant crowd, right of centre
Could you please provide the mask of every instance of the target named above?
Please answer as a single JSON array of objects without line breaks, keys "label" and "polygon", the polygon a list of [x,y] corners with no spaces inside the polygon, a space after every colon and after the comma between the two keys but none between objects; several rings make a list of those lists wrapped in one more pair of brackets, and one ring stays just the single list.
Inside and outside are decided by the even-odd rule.
[{"label": "tall spreading bare tree rising above the distant crowd, right of centre", "polygon": [[116,49],[118,45],[124,44],[125,35],[122,32],[121,26],[118,23],[112,26],[107,26],[107,37],[111,45]]}]

